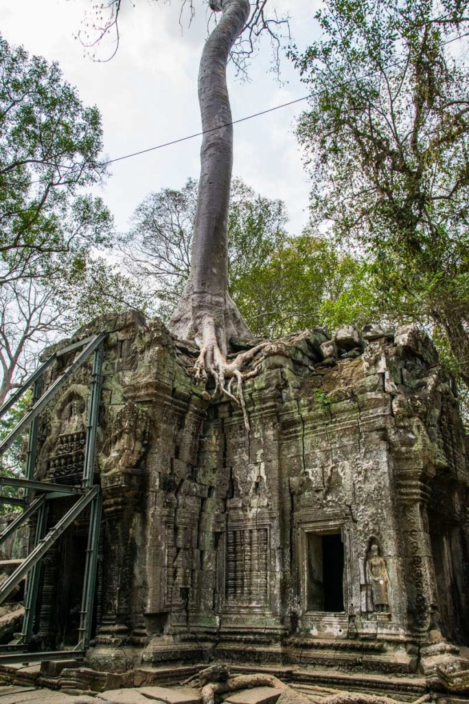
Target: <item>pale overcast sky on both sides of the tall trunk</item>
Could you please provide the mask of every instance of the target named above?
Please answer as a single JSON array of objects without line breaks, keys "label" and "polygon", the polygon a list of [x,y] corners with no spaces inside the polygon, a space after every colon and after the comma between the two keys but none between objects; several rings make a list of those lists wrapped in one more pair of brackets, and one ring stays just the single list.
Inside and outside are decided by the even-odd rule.
[{"label": "pale overcast sky on both sides of the tall trunk", "polygon": [[[269,0],[279,11],[290,11],[291,30],[299,46],[316,32],[317,0]],[[79,89],[87,104],[103,117],[104,149],[109,158],[146,149],[200,131],[197,73],[207,31],[205,4],[191,27],[181,32],[180,1],[122,0],[120,48],[108,63],[84,56],[74,39],[91,0],[0,0],[1,32],[11,44],[60,63],[65,78]],[[186,24],[186,23],[185,23]],[[103,46],[103,56],[108,49]],[[270,70],[267,46],[255,58],[250,82],[229,73],[233,119],[257,113],[307,94],[293,66],[283,61],[279,85]],[[233,174],[262,195],[285,201],[290,223],[298,233],[307,222],[310,184],[293,134],[295,117],[306,103],[282,108],[235,125]],[[129,218],[150,191],[180,188],[198,177],[200,138],[112,165],[100,189],[117,228],[127,230]]]}]

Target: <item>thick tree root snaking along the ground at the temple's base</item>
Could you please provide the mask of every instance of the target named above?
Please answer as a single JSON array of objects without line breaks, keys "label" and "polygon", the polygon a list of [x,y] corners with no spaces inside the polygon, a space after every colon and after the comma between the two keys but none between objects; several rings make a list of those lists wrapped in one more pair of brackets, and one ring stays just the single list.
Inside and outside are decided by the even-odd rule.
[{"label": "thick tree root snaking along the ground at the temple's base", "polygon": [[[282,693],[277,700],[277,704],[311,704],[311,702],[321,704],[397,704],[396,700],[388,697],[352,692],[339,692],[324,696],[326,690],[321,687],[316,688],[318,691],[317,697],[314,696],[313,691],[308,696],[305,696],[270,674],[240,674],[236,677],[230,677],[228,667],[222,664],[207,667],[206,670],[199,672],[197,677],[187,680],[184,684],[193,683],[194,679],[198,679],[198,683],[202,688],[202,704],[217,704],[221,694],[241,689],[252,689],[253,687],[275,687],[276,689],[281,689]],[[431,696],[425,694],[413,704],[423,704],[430,700]]]}]

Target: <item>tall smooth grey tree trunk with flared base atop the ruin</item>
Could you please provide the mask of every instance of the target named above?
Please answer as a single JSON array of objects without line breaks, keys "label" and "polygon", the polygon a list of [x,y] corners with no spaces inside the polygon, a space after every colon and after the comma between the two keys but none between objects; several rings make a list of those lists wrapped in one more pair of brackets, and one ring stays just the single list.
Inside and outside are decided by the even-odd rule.
[{"label": "tall smooth grey tree trunk with flared base atop the ruin", "polygon": [[226,364],[229,339],[252,337],[227,290],[233,127],[226,64],[248,19],[250,4],[248,0],[217,0],[210,6],[222,10],[223,15],[207,39],[200,61],[198,97],[206,134],[200,150],[191,276],[169,329],[176,337],[195,340],[201,350],[200,370],[217,377]]}]

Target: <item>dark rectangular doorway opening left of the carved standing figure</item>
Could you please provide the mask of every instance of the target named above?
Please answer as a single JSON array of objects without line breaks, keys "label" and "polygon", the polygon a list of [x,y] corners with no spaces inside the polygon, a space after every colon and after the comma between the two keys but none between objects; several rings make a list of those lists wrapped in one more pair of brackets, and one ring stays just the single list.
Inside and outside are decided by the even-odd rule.
[{"label": "dark rectangular doorway opening left of the carved standing figure", "polygon": [[307,610],[344,611],[344,544],[340,532],[308,532],[307,553]]}]

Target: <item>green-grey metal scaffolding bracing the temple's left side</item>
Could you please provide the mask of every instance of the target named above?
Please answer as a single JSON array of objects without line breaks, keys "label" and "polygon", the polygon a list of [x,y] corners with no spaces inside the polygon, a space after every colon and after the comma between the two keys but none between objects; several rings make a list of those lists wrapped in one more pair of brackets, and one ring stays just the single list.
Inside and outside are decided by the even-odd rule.
[{"label": "green-grey metal scaffolding bracing the temple's left side", "polygon": [[[27,459],[25,465],[25,479],[5,477],[0,472],[0,485],[19,486],[25,489],[25,498],[0,496],[0,503],[9,503],[23,506],[23,513],[0,534],[0,544],[11,536],[18,527],[23,525],[33,515],[37,515],[36,534],[34,547],[27,558],[15,569],[0,586],[0,603],[15,589],[27,575],[25,593],[25,616],[19,643],[0,646],[0,664],[5,662],[27,662],[30,660],[59,660],[63,658],[83,658],[89,646],[91,636],[91,623],[93,617],[94,594],[96,591],[96,572],[98,563],[98,542],[101,525],[102,498],[99,484],[94,483],[94,463],[96,455],[96,434],[98,431],[99,404],[101,400],[101,382],[103,365],[103,344],[107,333],[101,332],[62,350],[53,353],[35,372],[28,377],[23,386],[12,394],[4,406],[0,408],[0,418],[10,410],[15,403],[33,386],[32,407],[18,422],[8,436],[0,443],[0,456],[11,447],[20,434],[30,427]],[[79,351],[81,350],[81,351]],[[57,360],[65,355],[79,351],[75,359],[65,367],[65,370],[56,378],[44,393],[42,392],[44,372]],[[50,403],[57,391],[70,379],[76,370],[94,353],[93,371],[91,374],[91,395],[88,406],[88,422],[86,426],[86,441],[84,447],[84,466],[82,479],[79,486],[41,482],[34,479],[34,470],[37,458],[37,436],[39,415]],[[48,515],[51,501],[60,498],[74,497],[75,503],[66,511],[60,520],[49,530]],[[41,576],[41,560],[51,546],[60,538],[65,530],[86,509],[89,511],[88,544],[86,548],[86,561],[84,568],[84,581],[82,590],[82,607],[80,611],[79,639],[74,650],[54,650],[41,653],[30,653],[34,615],[39,593]],[[18,652],[20,650],[20,652]]]}]

